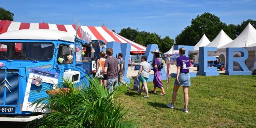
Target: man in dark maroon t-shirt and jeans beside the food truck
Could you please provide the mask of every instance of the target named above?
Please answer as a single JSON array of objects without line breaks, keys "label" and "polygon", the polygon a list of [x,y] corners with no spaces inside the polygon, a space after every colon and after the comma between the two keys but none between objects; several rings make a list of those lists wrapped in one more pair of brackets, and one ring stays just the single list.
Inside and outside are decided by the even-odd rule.
[{"label": "man in dark maroon t-shirt and jeans beside the food truck", "polygon": [[113,57],[113,49],[106,49],[107,59],[104,64],[104,72],[107,73],[108,79],[106,80],[106,88],[111,93],[115,89],[118,80],[118,72],[120,70],[119,62],[116,57]]}]

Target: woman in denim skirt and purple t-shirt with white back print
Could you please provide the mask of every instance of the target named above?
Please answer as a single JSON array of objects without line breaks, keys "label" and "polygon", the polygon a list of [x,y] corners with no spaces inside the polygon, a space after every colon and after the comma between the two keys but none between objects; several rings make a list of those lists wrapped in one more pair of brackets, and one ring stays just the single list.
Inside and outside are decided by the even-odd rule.
[{"label": "woman in denim skirt and purple t-shirt with white back print", "polygon": [[174,102],[176,99],[177,91],[180,86],[183,88],[184,93],[184,108],[183,112],[188,113],[187,105],[188,105],[188,87],[190,85],[190,75],[189,75],[189,64],[190,61],[188,57],[185,56],[186,49],[184,47],[179,49],[180,57],[177,58],[177,76],[173,85],[172,92],[172,102],[168,103],[167,106],[171,109],[175,109]]}]

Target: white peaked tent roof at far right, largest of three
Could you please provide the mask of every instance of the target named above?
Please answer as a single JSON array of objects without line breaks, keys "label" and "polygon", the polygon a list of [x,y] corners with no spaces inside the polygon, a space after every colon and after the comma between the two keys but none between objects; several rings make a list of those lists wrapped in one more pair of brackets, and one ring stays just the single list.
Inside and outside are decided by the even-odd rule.
[{"label": "white peaked tent roof at far right, largest of three", "polygon": [[249,23],[236,39],[219,48],[247,47],[255,43],[256,43],[256,29]]}]

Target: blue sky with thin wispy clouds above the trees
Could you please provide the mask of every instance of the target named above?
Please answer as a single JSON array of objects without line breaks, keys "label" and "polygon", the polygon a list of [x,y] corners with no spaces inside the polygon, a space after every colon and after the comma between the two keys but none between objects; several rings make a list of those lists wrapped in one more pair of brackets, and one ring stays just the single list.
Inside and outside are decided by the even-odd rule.
[{"label": "blue sky with thin wispy clouds above the trees", "polygon": [[197,14],[210,12],[227,24],[256,20],[255,0],[1,0],[0,6],[14,13],[14,21],[74,24],[109,29],[131,27],[175,38]]}]

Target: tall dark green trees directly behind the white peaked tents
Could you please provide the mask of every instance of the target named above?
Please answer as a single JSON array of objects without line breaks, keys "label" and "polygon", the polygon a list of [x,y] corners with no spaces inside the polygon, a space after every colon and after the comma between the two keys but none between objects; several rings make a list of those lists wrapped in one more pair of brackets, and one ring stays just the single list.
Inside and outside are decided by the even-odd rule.
[{"label": "tall dark green trees directly behind the white peaked tents", "polygon": [[191,20],[191,25],[187,26],[180,34],[175,37],[175,44],[177,45],[196,45],[201,39],[203,34],[212,41],[218,33],[223,31],[234,40],[244,30],[244,28],[251,23],[256,28],[256,20],[248,19],[243,21],[241,24],[227,25],[221,22],[219,17],[214,14],[205,12],[202,15],[197,15],[195,19]]}]

